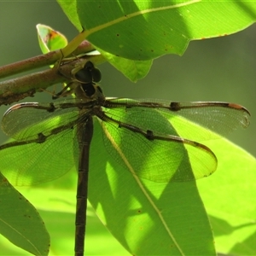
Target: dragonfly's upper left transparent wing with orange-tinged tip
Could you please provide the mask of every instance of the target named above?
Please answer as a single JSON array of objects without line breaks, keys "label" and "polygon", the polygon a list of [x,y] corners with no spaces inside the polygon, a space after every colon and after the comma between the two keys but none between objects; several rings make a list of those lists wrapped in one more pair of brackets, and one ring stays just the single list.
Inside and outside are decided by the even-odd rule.
[{"label": "dragonfly's upper left transparent wing with orange-tinged tip", "polygon": [[4,114],[2,129],[18,141],[37,139],[39,132],[49,136],[57,127],[65,130],[73,126],[79,114],[78,108],[64,108],[65,102],[16,104]]}]

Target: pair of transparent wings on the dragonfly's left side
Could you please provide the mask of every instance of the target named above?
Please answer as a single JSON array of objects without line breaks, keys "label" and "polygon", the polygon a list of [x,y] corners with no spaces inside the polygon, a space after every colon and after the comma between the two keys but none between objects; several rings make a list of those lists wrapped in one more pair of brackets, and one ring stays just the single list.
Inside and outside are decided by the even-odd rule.
[{"label": "pair of transparent wings on the dragonfly's left side", "polygon": [[74,128],[81,121],[75,103],[21,103],[4,114],[3,131],[16,141],[0,146],[0,170],[11,183],[43,183],[70,170]]}]

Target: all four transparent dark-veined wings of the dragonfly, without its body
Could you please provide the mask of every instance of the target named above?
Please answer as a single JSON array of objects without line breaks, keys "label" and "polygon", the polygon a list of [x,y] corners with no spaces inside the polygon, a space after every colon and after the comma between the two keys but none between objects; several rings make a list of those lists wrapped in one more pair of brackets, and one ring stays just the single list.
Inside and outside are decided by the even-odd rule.
[{"label": "all four transparent dark-veined wings of the dragonfly, without its body", "polygon": [[[26,103],[10,108],[3,117],[3,131],[21,144],[0,147],[3,174],[15,184],[26,185],[66,173],[73,166],[72,152],[78,152],[73,128],[90,114],[85,104],[80,118],[78,103]],[[112,99],[104,106],[107,119],[98,117],[103,120],[108,152],[135,175],[155,182],[188,181],[212,174],[216,157],[195,140],[216,137],[212,131],[226,134],[246,127],[249,117],[245,108],[224,102]]]}]

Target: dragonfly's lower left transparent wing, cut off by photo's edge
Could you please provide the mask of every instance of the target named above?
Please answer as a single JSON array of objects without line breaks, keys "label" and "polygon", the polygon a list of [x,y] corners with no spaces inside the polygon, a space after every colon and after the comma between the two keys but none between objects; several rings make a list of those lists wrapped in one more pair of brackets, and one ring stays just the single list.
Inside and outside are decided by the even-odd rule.
[{"label": "dragonfly's lower left transparent wing, cut off by photo's edge", "polygon": [[[5,147],[10,145],[10,147]],[[73,130],[61,131],[44,143],[0,146],[0,171],[14,185],[48,182],[68,172],[73,163]]]}]

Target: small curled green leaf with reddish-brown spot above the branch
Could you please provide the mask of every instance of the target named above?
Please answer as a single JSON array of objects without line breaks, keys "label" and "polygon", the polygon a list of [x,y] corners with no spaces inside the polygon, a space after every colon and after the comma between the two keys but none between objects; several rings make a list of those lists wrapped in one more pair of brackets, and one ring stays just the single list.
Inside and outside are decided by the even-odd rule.
[{"label": "small curled green leaf with reddish-brown spot above the branch", "polygon": [[50,26],[38,24],[37,30],[40,49],[44,54],[49,51],[61,49],[67,45],[67,38],[61,32],[55,31]]}]

